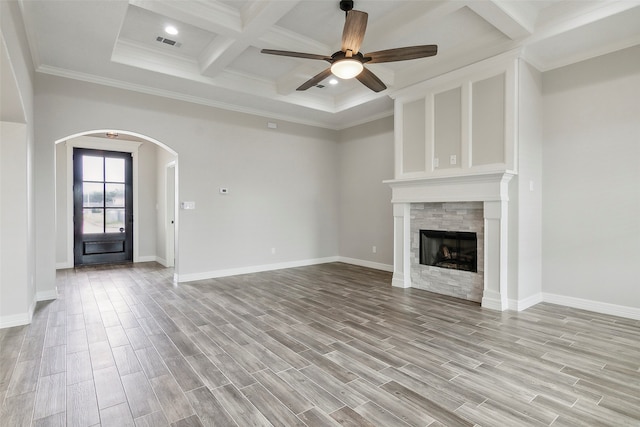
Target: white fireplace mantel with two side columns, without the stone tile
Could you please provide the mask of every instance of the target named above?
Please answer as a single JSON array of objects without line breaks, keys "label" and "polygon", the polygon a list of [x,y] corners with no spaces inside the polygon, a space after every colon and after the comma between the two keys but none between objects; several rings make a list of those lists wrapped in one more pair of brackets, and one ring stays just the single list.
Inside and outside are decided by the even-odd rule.
[{"label": "white fireplace mantel with two side columns, without the stone tile", "polygon": [[[454,291],[452,295],[479,300],[486,308],[506,310],[508,307],[507,278],[509,268],[507,262],[509,241],[508,187],[513,176],[513,174],[504,172],[387,181],[386,183],[392,189],[391,201],[394,219],[392,285],[403,288],[427,289],[424,287],[424,283],[419,283],[417,277],[419,275],[416,275],[417,269],[424,266],[412,265],[412,258],[415,258],[412,255],[412,233],[417,230],[416,225],[412,226],[411,224],[412,205],[415,213],[415,209],[426,206],[424,204],[480,202],[474,203],[472,206],[482,208],[484,220],[483,246],[479,248],[484,259],[482,265],[478,265],[477,273],[482,274],[483,285],[477,291],[470,291],[470,296],[462,295],[462,293],[469,293],[464,289]],[[414,236],[414,239],[417,237]],[[448,281],[451,282],[451,279],[452,277],[449,277]],[[417,282],[414,283],[414,280]],[[430,290],[439,292],[438,289]],[[447,291],[440,290],[440,293],[447,293]]]}]

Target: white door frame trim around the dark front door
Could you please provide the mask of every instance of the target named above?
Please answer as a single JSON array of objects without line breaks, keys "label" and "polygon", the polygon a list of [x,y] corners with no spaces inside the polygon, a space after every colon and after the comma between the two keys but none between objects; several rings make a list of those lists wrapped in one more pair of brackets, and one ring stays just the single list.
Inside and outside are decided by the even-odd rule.
[{"label": "white door frame trim around the dark front door", "polygon": [[131,163],[133,168],[133,262],[141,262],[138,255],[138,227],[136,220],[138,216],[138,149],[142,142],[114,140],[80,136],[64,142],[67,148],[67,263],[70,264],[66,268],[73,268],[74,254],[74,227],[73,227],[73,149],[74,148],[90,148],[94,150],[120,151],[131,153]]}]

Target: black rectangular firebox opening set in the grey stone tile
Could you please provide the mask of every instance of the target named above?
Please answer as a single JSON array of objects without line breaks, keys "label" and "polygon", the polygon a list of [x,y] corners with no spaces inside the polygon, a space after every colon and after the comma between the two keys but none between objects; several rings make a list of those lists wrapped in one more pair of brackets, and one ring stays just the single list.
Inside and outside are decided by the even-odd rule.
[{"label": "black rectangular firebox opening set in the grey stone tile", "polygon": [[420,230],[420,264],[477,272],[476,233]]}]

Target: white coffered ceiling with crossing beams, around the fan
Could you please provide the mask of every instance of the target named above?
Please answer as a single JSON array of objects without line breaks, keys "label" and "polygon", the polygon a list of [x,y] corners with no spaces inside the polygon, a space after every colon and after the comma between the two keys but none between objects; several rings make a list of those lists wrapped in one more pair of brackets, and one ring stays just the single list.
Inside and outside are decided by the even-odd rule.
[{"label": "white coffered ceiling with crossing beams, around the fan", "polygon": [[437,56],[368,65],[388,86],[380,93],[355,79],[296,91],[328,64],[260,49],[339,50],[337,0],[20,5],[38,72],[333,129],[390,114],[394,91],[512,49],[546,71],[640,43],[638,1],[355,0],[369,14],[363,52],[437,44]]}]

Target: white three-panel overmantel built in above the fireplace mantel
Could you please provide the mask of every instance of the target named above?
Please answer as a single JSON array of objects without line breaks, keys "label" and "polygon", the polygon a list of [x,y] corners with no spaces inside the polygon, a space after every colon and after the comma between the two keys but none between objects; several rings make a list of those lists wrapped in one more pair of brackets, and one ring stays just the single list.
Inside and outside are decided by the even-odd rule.
[{"label": "white three-panel overmantel built in above the fireplace mantel", "polygon": [[395,178],[517,172],[517,61],[501,56],[398,92]]}]

